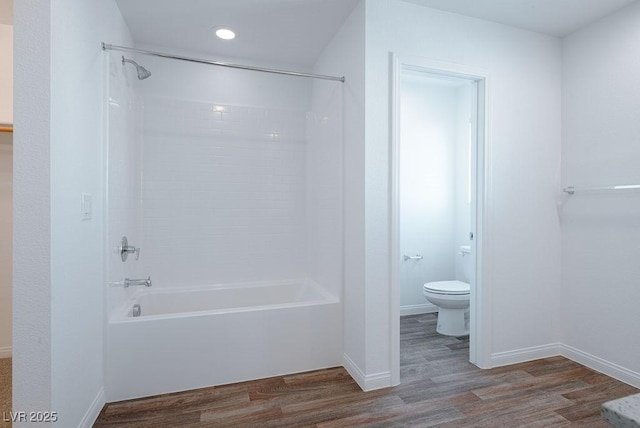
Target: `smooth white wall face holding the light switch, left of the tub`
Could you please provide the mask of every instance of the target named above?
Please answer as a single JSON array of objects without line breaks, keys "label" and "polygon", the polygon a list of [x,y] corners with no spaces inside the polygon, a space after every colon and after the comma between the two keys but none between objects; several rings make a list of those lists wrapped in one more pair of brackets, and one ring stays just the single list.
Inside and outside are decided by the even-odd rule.
[{"label": "smooth white wall face holding the light switch, left of the tub", "polygon": [[[91,424],[104,403],[107,99],[100,43],[131,40],[111,0],[56,2],[51,29],[51,402],[61,425],[78,426]],[[82,219],[83,193],[92,197],[90,220]]]}]

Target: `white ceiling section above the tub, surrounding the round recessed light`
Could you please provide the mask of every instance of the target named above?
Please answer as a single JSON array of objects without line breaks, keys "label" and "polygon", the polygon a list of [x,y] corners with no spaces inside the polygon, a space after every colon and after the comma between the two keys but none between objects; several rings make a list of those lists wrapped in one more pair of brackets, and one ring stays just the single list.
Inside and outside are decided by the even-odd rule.
[{"label": "white ceiling section above the tub, surrounding the round recessed light", "polygon": [[[308,68],[358,0],[116,0],[136,43]],[[228,26],[231,41],[212,28]]]}]

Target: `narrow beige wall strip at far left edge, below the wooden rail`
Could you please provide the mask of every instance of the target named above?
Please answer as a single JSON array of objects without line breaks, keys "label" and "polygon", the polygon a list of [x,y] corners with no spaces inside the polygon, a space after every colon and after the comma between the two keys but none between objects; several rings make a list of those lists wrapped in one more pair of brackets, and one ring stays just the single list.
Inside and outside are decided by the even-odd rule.
[{"label": "narrow beige wall strip at far left edge, below the wooden rail", "polygon": [[11,356],[13,135],[0,133],[0,358]]}]

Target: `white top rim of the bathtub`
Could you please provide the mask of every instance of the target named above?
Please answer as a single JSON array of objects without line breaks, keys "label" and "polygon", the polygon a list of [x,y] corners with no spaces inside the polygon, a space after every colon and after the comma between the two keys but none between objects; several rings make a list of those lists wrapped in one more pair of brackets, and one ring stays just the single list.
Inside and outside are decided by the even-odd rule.
[{"label": "white top rim of the bathtub", "polygon": [[[253,306],[241,306],[237,308],[211,309],[211,310],[190,311],[190,312],[175,312],[175,313],[169,313],[169,314],[158,314],[158,315],[147,315],[147,316],[145,316],[143,312],[143,315],[140,317],[129,316],[129,313],[131,312],[133,305],[137,302],[140,296],[145,294],[182,294],[182,293],[188,293],[188,292],[229,290],[229,289],[238,289],[238,288],[243,288],[243,289],[268,288],[276,285],[292,285],[292,284],[299,284],[302,286],[313,287],[322,296],[322,299],[304,300],[304,301],[292,302],[292,303],[277,303],[277,304],[262,305],[262,306],[253,305]],[[340,299],[338,297],[334,296],[326,288],[322,287],[320,284],[318,284],[316,281],[310,278],[268,280],[268,281],[247,281],[247,282],[238,282],[238,283],[192,285],[192,286],[183,286],[183,287],[159,287],[154,290],[152,290],[151,288],[147,288],[147,289],[141,288],[136,290],[131,295],[131,297],[127,298],[126,301],[124,301],[121,305],[116,307],[111,312],[111,314],[109,315],[108,322],[109,324],[122,324],[122,323],[130,323],[130,322],[144,322],[144,321],[207,316],[207,315],[222,315],[226,313],[276,310],[276,309],[286,309],[286,308],[296,308],[296,307],[316,306],[316,305],[326,305],[326,304],[336,304],[336,303],[340,303]]]}]

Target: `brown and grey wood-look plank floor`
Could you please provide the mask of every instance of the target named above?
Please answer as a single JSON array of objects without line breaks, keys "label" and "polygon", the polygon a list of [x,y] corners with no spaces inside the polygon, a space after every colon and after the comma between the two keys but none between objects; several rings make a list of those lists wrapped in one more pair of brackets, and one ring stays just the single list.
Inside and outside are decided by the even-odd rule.
[{"label": "brown and grey wood-look plank floor", "polygon": [[107,404],[94,427],[608,427],[600,405],[638,392],[562,357],[480,370],[435,320],[402,318],[398,387],[327,369]]}]

